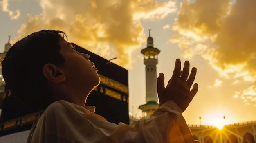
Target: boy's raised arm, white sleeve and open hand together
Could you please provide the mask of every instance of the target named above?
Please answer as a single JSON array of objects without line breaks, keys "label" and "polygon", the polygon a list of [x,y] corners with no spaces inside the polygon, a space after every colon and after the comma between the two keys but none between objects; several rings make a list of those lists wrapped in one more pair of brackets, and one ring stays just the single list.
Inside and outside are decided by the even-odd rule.
[{"label": "boy's raised arm, white sleeve and open hand together", "polygon": [[[164,74],[160,73],[157,79],[159,108],[149,120],[140,119],[135,128],[119,123],[110,138],[117,143],[144,142],[144,143],[196,143],[186,124],[182,112],[198,91],[194,84],[196,68],[192,68],[189,75],[189,61],[180,68],[180,59],[176,60],[173,76],[164,87]],[[189,76],[189,77],[188,77]]]}]

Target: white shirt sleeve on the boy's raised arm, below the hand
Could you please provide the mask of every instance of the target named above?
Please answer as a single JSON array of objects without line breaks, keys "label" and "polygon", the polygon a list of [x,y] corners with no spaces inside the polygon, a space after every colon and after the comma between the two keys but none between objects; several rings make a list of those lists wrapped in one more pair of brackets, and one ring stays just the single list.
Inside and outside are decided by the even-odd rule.
[{"label": "white shirt sleeve on the boy's raised arm, below the hand", "polygon": [[149,120],[140,119],[134,128],[119,123],[110,138],[115,143],[194,143],[182,110],[173,101],[160,106]]}]

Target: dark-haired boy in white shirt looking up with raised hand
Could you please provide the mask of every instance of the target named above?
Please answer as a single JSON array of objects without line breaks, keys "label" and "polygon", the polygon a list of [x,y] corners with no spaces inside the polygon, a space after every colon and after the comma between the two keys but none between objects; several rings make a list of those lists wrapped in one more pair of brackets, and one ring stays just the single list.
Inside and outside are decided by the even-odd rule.
[{"label": "dark-haired boy in white shirt looking up with raised hand", "polygon": [[197,84],[190,90],[196,68],[188,77],[188,61],[181,72],[176,60],[166,88],[159,73],[160,104],[151,119],[140,119],[134,128],[116,125],[85,106],[100,78],[90,56],[77,52],[65,37],[55,30],[32,33],[16,42],[2,62],[6,85],[17,99],[31,108],[47,106],[35,119],[27,143],[194,143],[182,117],[198,91]]}]

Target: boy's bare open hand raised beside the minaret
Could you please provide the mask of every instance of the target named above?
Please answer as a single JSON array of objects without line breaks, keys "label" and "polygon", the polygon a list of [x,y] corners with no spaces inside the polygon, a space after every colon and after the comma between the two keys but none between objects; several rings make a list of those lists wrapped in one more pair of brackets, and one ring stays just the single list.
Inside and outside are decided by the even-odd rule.
[{"label": "boy's bare open hand raised beside the minaret", "polygon": [[[180,59],[176,59],[173,76],[164,86],[164,74],[159,73],[157,78],[157,93],[161,106],[166,101],[174,101],[184,112],[189,106],[195,94],[198,92],[198,84],[194,84],[190,90],[196,75],[196,68],[192,68],[189,75],[189,61],[184,63],[183,71],[181,71]],[[189,76],[189,78],[188,78]]]}]

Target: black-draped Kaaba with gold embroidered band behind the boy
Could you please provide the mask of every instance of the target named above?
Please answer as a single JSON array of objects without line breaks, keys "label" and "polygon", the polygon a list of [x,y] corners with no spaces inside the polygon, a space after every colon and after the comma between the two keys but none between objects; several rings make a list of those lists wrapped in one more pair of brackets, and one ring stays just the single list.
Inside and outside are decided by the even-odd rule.
[{"label": "black-draped Kaaba with gold embroidered band behind the boy", "polygon": [[[99,86],[88,96],[86,105],[95,106],[95,114],[103,116],[109,122],[129,124],[128,71],[78,45],[76,51],[90,55],[101,78]],[[22,106],[6,89],[2,103],[0,136],[30,130],[34,119],[43,112],[44,110],[31,110]]]}]

